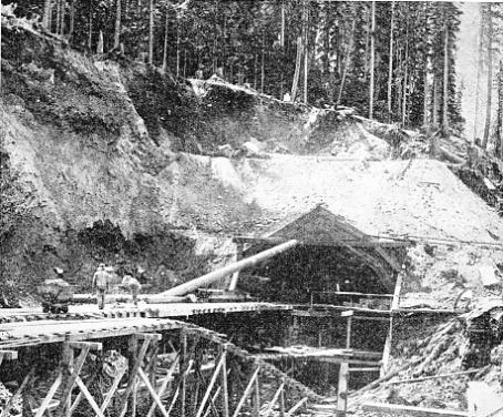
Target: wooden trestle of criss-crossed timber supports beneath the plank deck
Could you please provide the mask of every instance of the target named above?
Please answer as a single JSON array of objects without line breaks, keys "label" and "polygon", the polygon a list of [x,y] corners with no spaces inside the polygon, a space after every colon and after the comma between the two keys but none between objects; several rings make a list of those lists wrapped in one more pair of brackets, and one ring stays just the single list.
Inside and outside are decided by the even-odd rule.
[{"label": "wooden trestle of criss-crossed timber supports beneath the plank deck", "polygon": [[2,342],[0,379],[14,394],[0,417],[19,401],[23,417],[289,417],[322,400],[225,335],[167,318],[124,322]]}]

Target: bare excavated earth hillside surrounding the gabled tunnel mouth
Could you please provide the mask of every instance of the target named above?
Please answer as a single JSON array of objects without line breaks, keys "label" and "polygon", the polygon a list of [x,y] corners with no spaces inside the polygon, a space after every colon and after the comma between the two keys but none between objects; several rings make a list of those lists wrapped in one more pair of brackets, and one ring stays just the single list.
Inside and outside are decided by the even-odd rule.
[{"label": "bare excavated earth hillside surrounding the gabled tunnel mouth", "polygon": [[351,110],[217,78],[181,83],[76,53],[11,16],[2,23],[2,172],[23,202],[2,236],[4,294],[32,292],[54,267],[85,291],[102,261],[145,271],[162,291],[232,262],[232,236],[325,203],[370,234],[437,240],[410,251],[404,305],[487,295],[479,266],[503,262],[499,216],[421,159],[413,133],[403,149],[394,128]]}]

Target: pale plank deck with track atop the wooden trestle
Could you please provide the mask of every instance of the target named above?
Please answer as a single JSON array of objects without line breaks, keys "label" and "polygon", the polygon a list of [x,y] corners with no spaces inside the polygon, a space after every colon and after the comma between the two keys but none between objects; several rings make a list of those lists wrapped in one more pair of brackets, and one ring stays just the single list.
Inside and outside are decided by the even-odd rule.
[{"label": "pale plank deck with track atop the wooden trestle", "polygon": [[269,303],[179,303],[137,308],[110,305],[103,311],[78,305],[66,314],[44,314],[40,308],[0,311],[0,349],[175,329],[183,326],[176,318],[193,315],[290,309]]}]

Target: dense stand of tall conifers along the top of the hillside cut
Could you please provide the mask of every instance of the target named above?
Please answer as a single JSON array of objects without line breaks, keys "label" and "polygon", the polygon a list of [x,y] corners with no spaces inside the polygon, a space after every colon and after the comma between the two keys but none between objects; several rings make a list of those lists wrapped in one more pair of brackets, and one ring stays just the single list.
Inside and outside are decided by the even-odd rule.
[{"label": "dense stand of tall conifers along the top of the hillside cut", "polygon": [[[460,4],[446,1],[19,0],[72,48],[142,60],[178,78],[245,84],[317,106],[427,132],[462,135],[456,81]],[[471,141],[501,153],[501,3],[482,3],[479,67],[491,88],[474,103]],[[479,71],[479,72],[480,72]],[[479,74],[478,72],[478,74]],[[480,77],[478,80],[481,82]],[[481,111],[479,101],[484,100]],[[493,111],[491,112],[491,109]],[[471,138],[473,136],[473,138]]]}]

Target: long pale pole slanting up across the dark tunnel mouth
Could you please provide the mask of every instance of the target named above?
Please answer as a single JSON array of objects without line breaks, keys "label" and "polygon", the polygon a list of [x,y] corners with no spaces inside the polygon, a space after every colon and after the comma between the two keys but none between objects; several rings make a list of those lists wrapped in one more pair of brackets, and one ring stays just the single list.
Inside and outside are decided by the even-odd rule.
[{"label": "long pale pole slanting up across the dark tunnel mouth", "polygon": [[260,261],[267,260],[277,254],[280,254],[281,252],[288,251],[291,247],[297,246],[299,242],[296,240],[281,243],[280,245],[274,246],[270,250],[257,253],[254,256],[224,266],[222,269],[213,271],[206,275],[199,276],[198,278],[192,279],[188,283],[177,285],[173,288],[170,288],[163,293],[157,294],[157,296],[172,297],[192,293],[193,291],[196,291],[197,288],[201,288],[205,285],[209,285],[213,282],[223,278],[224,276],[242,271],[248,266],[254,266]]}]

